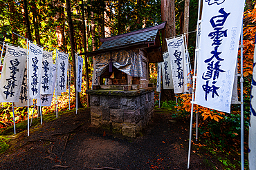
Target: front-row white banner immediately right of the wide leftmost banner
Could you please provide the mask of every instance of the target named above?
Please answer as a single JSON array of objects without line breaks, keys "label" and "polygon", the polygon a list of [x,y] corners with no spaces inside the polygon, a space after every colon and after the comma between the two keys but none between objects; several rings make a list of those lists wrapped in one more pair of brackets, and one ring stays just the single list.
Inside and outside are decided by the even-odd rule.
[{"label": "front-row white banner immediately right of the wide leftmost banner", "polygon": [[42,47],[38,47],[33,43],[29,43],[29,98],[39,98],[42,73],[42,57]]}]

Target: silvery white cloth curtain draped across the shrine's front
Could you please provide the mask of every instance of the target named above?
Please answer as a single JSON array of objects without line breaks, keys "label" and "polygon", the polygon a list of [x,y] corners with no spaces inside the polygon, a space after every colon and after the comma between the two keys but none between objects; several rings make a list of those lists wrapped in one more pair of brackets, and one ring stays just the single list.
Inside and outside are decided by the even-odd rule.
[{"label": "silvery white cloth curtain draped across the shrine's front", "polygon": [[[120,50],[95,56],[96,76],[105,72],[109,63],[129,76],[143,76],[142,56],[138,50]],[[112,64],[109,67],[112,67]]]}]

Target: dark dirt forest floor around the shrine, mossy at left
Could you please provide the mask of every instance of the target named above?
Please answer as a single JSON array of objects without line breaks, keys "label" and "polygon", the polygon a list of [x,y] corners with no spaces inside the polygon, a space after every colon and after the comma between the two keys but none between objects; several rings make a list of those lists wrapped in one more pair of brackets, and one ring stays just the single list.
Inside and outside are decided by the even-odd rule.
[{"label": "dark dirt forest floor around the shrine, mossy at left", "polygon": [[[43,121],[40,125],[39,118],[33,119],[30,136],[26,122],[17,124],[17,135],[13,135],[12,128],[0,129],[3,152],[0,152],[0,169],[187,169],[188,166],[190,122],[174,119],[168,111],[155,111],[147,130],[137,138],[91,127],[89,108],[79,109],[76,115],[74,109],[63,111],[58,118],[55,114],[44,115]],[[200,142],[192,141],[190,169],[224,169],[217,156],[199,146]]]}]

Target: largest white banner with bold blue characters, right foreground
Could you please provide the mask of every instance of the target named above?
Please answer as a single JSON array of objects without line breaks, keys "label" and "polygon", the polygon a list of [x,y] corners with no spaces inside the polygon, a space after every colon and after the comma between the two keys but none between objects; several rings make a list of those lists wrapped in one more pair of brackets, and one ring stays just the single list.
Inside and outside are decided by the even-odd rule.
[{"label": "largest white banner with bold blue characters, right foreground", "polygon": [[205,0],[195,103],[230,113],[244,0]]}]

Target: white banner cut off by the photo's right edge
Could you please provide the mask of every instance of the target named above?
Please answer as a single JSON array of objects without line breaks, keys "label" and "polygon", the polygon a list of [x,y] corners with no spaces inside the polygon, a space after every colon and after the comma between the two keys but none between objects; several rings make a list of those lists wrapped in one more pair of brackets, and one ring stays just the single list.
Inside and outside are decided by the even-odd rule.
[{"label": "white banner cut off by the photo's right edge", "polygon": [[249,169],[256,169],[256,51],[254,52],[253,78],[250,91]]}]

